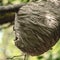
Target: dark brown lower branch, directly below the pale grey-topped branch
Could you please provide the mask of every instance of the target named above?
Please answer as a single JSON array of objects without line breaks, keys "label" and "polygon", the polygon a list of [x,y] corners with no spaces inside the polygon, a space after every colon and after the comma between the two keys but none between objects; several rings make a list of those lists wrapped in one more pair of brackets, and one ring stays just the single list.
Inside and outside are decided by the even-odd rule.
[{"label": "dark brown lower branch, directly below the pale grey-topped branch", "polygon": [[5,13],[0,15],[0,25],[6,23],[13,23],[15,19],[15,13]]}]

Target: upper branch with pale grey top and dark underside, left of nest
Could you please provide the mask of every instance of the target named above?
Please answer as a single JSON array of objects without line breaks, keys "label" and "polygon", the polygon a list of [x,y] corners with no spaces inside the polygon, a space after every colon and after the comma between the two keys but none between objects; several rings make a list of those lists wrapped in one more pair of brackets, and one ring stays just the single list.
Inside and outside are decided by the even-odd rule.
[{"label": "upper branch with pale grey top and dark underside, left of nest", "polygon": [[26,3],[16,4],[16,5],[8,5],[8,6],[0,6],[0,14],[5,12],[17,12],[19,8],[24,6]]}]

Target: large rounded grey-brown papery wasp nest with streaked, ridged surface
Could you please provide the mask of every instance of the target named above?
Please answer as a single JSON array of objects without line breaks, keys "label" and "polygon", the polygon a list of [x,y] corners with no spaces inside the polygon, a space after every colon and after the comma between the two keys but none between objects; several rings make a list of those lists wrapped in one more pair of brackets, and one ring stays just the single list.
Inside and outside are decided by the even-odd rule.
[{"label": "large rounded grey-brown papery wasp nest with streaked, ridged surface", "polygon": [[30,2],[15,15],[15,45],[32,56],[43,54],[59,40],[60,9],[49,2]]}]

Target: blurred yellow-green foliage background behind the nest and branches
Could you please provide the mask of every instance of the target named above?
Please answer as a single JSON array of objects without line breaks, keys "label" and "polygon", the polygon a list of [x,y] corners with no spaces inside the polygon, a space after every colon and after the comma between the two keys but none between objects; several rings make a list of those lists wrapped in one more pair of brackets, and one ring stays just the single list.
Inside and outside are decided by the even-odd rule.
[{"label": "blurred yellow-green foliage background behind the nest and branches", "polygon": [[[18,4],[32,0],[0,0],[0,5]],[[0,60],[23,60],[24,55],[14,44],[14,31],[10,23],[0,25]],[[21,56],[22,55],[22,56]],[[60,41],[51,50],[40,56],[29,56],[28,60],[60,60]]]}]

